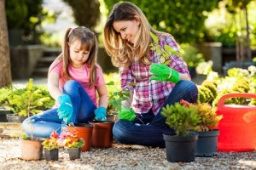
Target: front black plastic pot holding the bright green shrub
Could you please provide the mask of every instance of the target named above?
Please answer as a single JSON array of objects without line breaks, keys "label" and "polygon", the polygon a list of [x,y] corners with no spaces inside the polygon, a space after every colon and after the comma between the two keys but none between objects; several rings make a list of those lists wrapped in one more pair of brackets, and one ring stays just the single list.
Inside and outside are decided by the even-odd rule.
[{"label": "front black plastic pot holding the bright green shrub", "polygon": [[173,133],[164,133],[166,142],[166,158],[170,162],[195,161],[195,142],[197,133],[189,133],[189,136],[177,136]]}]

